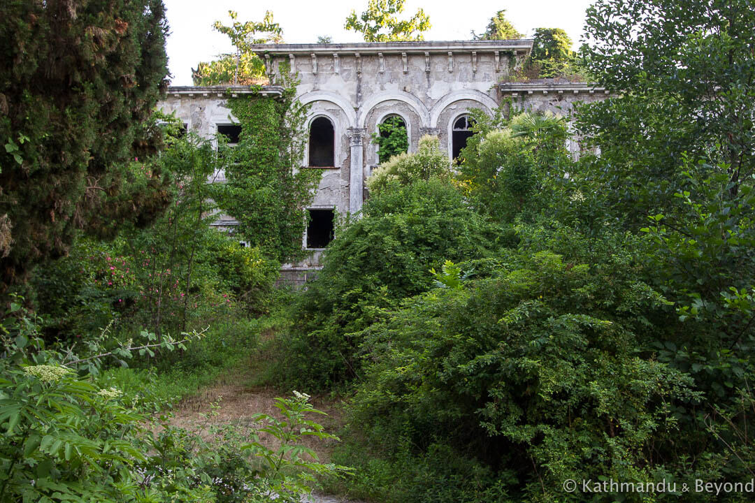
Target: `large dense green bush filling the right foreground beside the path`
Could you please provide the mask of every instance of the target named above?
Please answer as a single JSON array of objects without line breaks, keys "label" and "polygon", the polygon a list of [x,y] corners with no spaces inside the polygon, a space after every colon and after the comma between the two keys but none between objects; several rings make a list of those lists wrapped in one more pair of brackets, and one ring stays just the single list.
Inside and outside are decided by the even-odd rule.
[{"label": "large dense green bush filling the right foreground beside the path", "polygon": [[[507,481],[495,501],[562,501],[566,479],[689,475],[676,465],[676,411],[701,395],[639,351],[668,302],[636,280],[633,258],[508,262],[495,278],[408,300],[356,336],[364,382],[351,425],[367,443],[393,439],[379,453],[388,459],[425,459],[440,445],[495,469]],[[432,501],[411,489],[402,501]]]}]

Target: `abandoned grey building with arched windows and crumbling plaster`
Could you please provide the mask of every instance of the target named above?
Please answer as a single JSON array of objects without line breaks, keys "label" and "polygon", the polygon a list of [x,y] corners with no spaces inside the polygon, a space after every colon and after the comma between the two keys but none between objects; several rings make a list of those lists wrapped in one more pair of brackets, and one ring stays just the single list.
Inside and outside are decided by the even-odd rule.
[{"label": "abandoned grey building with arched windows and crumbling plaster", "polygon": [[[260,44],[253,48],[266,63],[270,85],[263,95],[282,93],[281,72],[297,72],[297,98],[310,103],[308,145],[302,169],[322,171],[309,207],[310,225],[302,246],[310,258],[288,264],[286,281],[306,281],[319,268],[322,249],[334,235],[337,213],[356,213],[367,197],[365,179],[378,164],[371,134],[396,117],[405,125],[408,150],[420,136],[439,136],[441,148],[458,156],[470,131],[469,109],[491,113],[504,98],[520,109],[568,115],[575,101],[602,100],[608,91],[584,83],[512,82],[510,76],[532,50],[531,39],[500,41],[408,41],[359,44]],[[248,87],[171,87],[159,103],[202,136],[225,134],[238,141],[240,127],[223,100]],[[572,152],[577,146],[570,145]],[[217,181],[223,181],[218,173]],[[233,219],[216,225],[232,229]]]}]

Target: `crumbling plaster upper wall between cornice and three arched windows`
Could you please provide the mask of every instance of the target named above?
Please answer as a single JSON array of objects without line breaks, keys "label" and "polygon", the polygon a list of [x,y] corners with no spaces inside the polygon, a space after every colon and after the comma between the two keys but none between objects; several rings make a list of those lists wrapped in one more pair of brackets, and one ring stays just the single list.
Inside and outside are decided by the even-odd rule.
[{"label": "crumbling plaster upper wall between cornice and three arched windows", "polygon": [[[448,124],[438,124],[438,118],[445,107],[458,100],[476,101],[476,106],[483,109],[495,108],[495,84],[509,69],[505,54],[501,55],[498,72],[493,55],[487,53],[478,54],[475,64],[471,53],[455,53],[450,63],[445,54],[430,54],[430,71],[426,70],[426,57],[422,54],[407,54],[406,70],[401,54],[385,54],[382,63],[377,54],[362,54],[359,60],[361,63],[357,63],[354,55],[339,55],[336,69],[334,57],[319,55],[314,72],[313,60],[296,57],[294,70],[300,78],[298,97],[305,101],[330,100],[353,120],[350,127],[366,127],[365,135],[374,132],[372,122],[377,115],[374,109],[405,103],[400,107],[405,111],[408,107],[418,118],[411,124],[410,150],[416,149],[421,130],[446,128]],[[273,79],[279,74],[283,61],[290,65],[288,58],[273,61]],[[357,72],[358,64],[361,72]],[[396,112],[401,115],[399,109]],[[372,164],[374,146],[366,140],[368,136],[364,143],[365,164]]]}]

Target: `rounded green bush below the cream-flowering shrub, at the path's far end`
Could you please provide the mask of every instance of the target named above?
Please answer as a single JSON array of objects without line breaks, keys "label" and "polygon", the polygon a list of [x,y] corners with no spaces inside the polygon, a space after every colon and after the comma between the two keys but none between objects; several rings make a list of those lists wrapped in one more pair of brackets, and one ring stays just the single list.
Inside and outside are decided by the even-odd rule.
[{"label": "rounded green bush below the cream-flowering shrub, at the path's far end", "polygon": [[369,198],[361,216],[338,229],[322,271],[301,296],[294,327],[279,335],[285,374],[278,379],[322,388],[358,375],[359,338],[350,334],[399,299],[428,290],[428,271],[445,259],[487,256],[495,231],[448,181],[395,184]]}]

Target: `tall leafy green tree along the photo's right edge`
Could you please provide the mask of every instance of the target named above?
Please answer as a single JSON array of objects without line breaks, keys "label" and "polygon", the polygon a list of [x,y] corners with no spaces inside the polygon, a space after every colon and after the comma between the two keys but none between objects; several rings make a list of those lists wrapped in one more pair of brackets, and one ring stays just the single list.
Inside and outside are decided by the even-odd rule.
[{"label": "tall leafy green tree along the photo's right edge", "polygon": [[596,2],[584,54],[621,96],[581,107],[601,155],[574,178],[592,186],[593,228],[623,222],[652,238],[652,279],[686,320],[673,364],[732,406],[755,368],[753,26],[750,0]]}]

